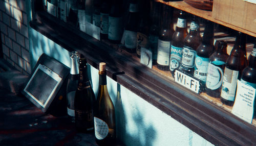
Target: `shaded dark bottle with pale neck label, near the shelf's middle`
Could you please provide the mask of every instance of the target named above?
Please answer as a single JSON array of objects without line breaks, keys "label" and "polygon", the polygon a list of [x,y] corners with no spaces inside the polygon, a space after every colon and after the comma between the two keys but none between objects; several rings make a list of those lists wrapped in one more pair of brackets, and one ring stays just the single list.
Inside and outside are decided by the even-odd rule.
[{"label": "shaded dark bottle with pale neck label, near the shelf's middle", "polygon": [[124,29],[124,47],[125,50],[130,53],[136,52],[138,21],[139,4],[137,0],[131,0],[128,21]]}]

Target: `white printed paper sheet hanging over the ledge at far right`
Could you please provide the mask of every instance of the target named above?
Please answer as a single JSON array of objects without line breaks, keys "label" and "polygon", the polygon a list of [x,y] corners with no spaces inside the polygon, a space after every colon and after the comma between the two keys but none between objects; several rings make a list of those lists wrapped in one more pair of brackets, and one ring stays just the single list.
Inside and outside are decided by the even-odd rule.
[{"label": "white printed paper sheet hanging over the ledge at far right", "polygon": [[255,88],[238,80],[236,100],[234,101],[234,106],[231,113],[247,121],[248,123],[251,123],[254,99]]}]

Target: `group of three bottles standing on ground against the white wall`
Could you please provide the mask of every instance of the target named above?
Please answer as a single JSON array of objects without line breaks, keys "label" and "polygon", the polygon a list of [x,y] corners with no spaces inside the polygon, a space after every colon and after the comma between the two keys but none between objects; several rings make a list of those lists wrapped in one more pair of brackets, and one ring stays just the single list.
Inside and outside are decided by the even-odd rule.
[{"label": "group of three bottles standing on ground against the white wall", "polygon": [[[106,64],[99,64],[97,100],[92,89],[87,61],[72,52],[70,78],[67,86],[67,112],[79,132],[95,132],[99,145],[111,145],[116,139],[115,108],[106,86]],[[78,67],[79,66],[79,67]]]}]

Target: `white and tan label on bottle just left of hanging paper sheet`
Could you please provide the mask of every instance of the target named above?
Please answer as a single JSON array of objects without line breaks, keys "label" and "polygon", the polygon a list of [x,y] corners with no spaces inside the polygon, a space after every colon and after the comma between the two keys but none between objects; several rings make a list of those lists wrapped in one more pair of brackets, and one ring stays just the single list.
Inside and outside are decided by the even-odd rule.
[{"label": "white and tan label on bottle just left of hanging paper sheet", "polygon": [[228,101],[234,101],[236,94],[239,71],[225,67],[221,89],[221,97]]}]

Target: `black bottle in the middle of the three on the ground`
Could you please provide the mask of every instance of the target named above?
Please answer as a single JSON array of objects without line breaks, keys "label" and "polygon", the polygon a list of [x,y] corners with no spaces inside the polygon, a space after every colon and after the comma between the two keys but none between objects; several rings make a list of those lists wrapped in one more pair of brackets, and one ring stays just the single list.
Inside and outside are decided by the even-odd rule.
[{"label": "black bottle in the middle of the three on the ground", "polygon": [[86,59],[79,59],[79,80],[75,94],[75,125],[81,132],[94,129],[93,108],[95,95],[87,75]]}]

